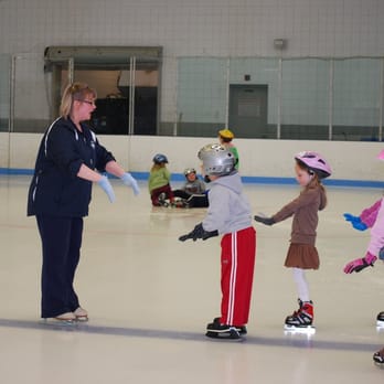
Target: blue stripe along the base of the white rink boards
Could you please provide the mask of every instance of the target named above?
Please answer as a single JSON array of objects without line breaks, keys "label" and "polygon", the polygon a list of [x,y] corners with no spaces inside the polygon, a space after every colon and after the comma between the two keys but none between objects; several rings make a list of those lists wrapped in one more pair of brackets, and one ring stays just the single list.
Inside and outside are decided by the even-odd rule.
[{"label": "blue stripe along the base of the white rink boards", "polygon": [[[31,169],[10,169],[0,168],[0,174],[8,175],[32,175]],[[147,180],[149,172],[131,172],[132,177],[137,180]],[[184,174],[173,173],[171,181],[184,181]],[[247,184],[297,184],[295,178],[267,178],[267,177],[242,177],[244,183]],[[326,179],[324,185],[332,186],[351,186],[351,188],[382,188],[384,189],[384,181],[370,181],[370,180],[342,180],[342,179]]]}]

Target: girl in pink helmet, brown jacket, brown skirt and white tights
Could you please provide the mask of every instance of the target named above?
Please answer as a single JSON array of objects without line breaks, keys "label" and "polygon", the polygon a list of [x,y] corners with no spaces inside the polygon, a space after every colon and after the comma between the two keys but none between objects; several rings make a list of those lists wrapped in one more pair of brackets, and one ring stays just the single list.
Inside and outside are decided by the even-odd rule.
[{"label": "girl in pink helmet, brown jacket, brown skirt and white tights", "polygon": [[317,152],[300,152],[295,160],[296,180],[302,186],[299,196],[271,217],[255,216],[257,222],[266,225],[294,216],[285,266],[294,269],[294,279],[299,294],[299,309],[286,318],[285,328],[288,330],[312,328],[313,302],[309,298],[305,270],[319,269],[319,255],[314,246],[318,211],[327,205],[326,189],[321,179],[331,174],[330,166]]}]

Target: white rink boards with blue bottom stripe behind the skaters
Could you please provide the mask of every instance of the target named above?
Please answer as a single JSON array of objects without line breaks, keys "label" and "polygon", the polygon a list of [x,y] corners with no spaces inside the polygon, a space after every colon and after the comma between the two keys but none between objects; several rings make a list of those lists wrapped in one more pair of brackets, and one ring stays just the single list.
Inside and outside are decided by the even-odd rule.
[{"label": "white rink boards with blue bottom stripe behind the skaters", "polygon": [[[41,134],[0,132],[0,172],[31,173],[42,138]],[[139,179],[146,179],[154,153],[167,154],[174,180],[185,168],[200,167],[196,153],[216,138],[164,136],[98,136],[116,159]],[[291,183],[294,154],[302,150],[322,153],[333,174],[328,184],[384,188],[384,162],[377,153],[382,142],[235,139],[241,173],[245,182]]]}]

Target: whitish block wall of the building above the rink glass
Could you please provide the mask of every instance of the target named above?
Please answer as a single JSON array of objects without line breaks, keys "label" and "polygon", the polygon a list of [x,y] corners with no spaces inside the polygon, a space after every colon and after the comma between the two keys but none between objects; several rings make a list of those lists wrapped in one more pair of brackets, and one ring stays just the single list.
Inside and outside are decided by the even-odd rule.
[{"label": "whitish block wall of the building above the rink glass", "polygon": [[[15,57],[23,92],[34,100],[17,110],[36,119],[47,115],[46,46],[163,46],[167,124],[177,114],[177,57],[380,56],[383,15],[381,0],[0,0],[0,55]],[[276,50],[275,39],[287,47]],[[8,82],[1,71],[2,89]]]}]

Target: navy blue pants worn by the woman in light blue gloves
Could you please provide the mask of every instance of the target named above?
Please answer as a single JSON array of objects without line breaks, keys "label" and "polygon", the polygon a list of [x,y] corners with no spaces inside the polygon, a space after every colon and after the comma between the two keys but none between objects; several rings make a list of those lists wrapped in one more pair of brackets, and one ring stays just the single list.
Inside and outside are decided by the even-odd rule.
[{"label": "navy blue pants worn by the woman in light blue gloves", "polygon": [[54,318],[79,307],[73,287],[83,237],[82,217],[36,216],[42,241],[41,317]]}]

